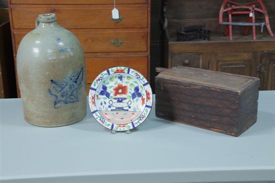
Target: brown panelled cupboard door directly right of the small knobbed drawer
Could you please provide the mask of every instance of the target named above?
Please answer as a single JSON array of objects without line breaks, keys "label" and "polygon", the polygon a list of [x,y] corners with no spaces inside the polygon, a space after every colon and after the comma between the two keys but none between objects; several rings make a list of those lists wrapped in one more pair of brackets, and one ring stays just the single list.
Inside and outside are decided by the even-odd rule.
[{"label": "brown panelled cupboard door directly right of the small knobbed drawer", "polygon": [[212,53],[210,70],[257,77],[259,56],[253,52]]}]

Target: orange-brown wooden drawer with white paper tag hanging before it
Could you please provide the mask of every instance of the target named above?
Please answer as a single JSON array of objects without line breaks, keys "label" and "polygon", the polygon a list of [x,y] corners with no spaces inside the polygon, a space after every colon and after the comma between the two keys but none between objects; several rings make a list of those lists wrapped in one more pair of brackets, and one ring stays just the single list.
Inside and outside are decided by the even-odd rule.
[{"label": "orange-brown wooden drawer with white paper tag hanging before it", "polygon": [[[34,22],[38,14],[54,12],[57,22],[68,29],[73,28],[146,28],[148,26],[147,5],[137,7],[119,7],[119,14],[123,16],[120,22],[111,20],[111,10],[109,7],[89,7],[89,6],[57,6],[48,7],[11,7],[13,28],[33,29]],[[73,14],[73,16],[72,16]]]}]

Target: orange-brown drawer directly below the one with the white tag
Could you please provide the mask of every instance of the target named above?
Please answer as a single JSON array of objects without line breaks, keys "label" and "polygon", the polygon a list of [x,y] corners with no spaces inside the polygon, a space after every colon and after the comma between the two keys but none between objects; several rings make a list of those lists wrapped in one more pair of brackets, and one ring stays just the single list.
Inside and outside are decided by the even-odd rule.
[{"label": "orange-brown drawer directly below the one with the white tag", "polygon": [[[79,39],[85,53],[95,52],[146,52],[147,31],[72,31]],[[15,48],[26,32],[14,32]],[[123,41],[115,46],[111,41]],[[120,44],[120,43],[119,43]]]}]

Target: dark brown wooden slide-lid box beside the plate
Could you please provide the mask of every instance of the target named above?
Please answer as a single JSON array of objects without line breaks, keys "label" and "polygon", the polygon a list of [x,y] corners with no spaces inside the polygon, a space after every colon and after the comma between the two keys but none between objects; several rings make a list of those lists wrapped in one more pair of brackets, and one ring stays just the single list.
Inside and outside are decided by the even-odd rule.
[{"label": "dark brown wooden slide-lid box beside the plate", "polygon": [[236,137],[256,122],[258,78],[182,66],[160,71],[156,117]]}]

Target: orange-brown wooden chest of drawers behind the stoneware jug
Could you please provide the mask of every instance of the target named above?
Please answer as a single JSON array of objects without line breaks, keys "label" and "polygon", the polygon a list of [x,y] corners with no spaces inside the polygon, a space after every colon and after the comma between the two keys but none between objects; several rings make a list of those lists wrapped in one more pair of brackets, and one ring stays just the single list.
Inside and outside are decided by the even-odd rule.
[{"label": "orange-brown wooden chest of drawers behind the stoneware jug", "polygon": [[119,19],[111,18],[113,0],[8,0],[8,7],[15,65],[18,45],[37,15],[53,12],[84,48],[87,90],[100,72],[114,66],[131,67],[148,79],[150,0],[116,0]]}]

